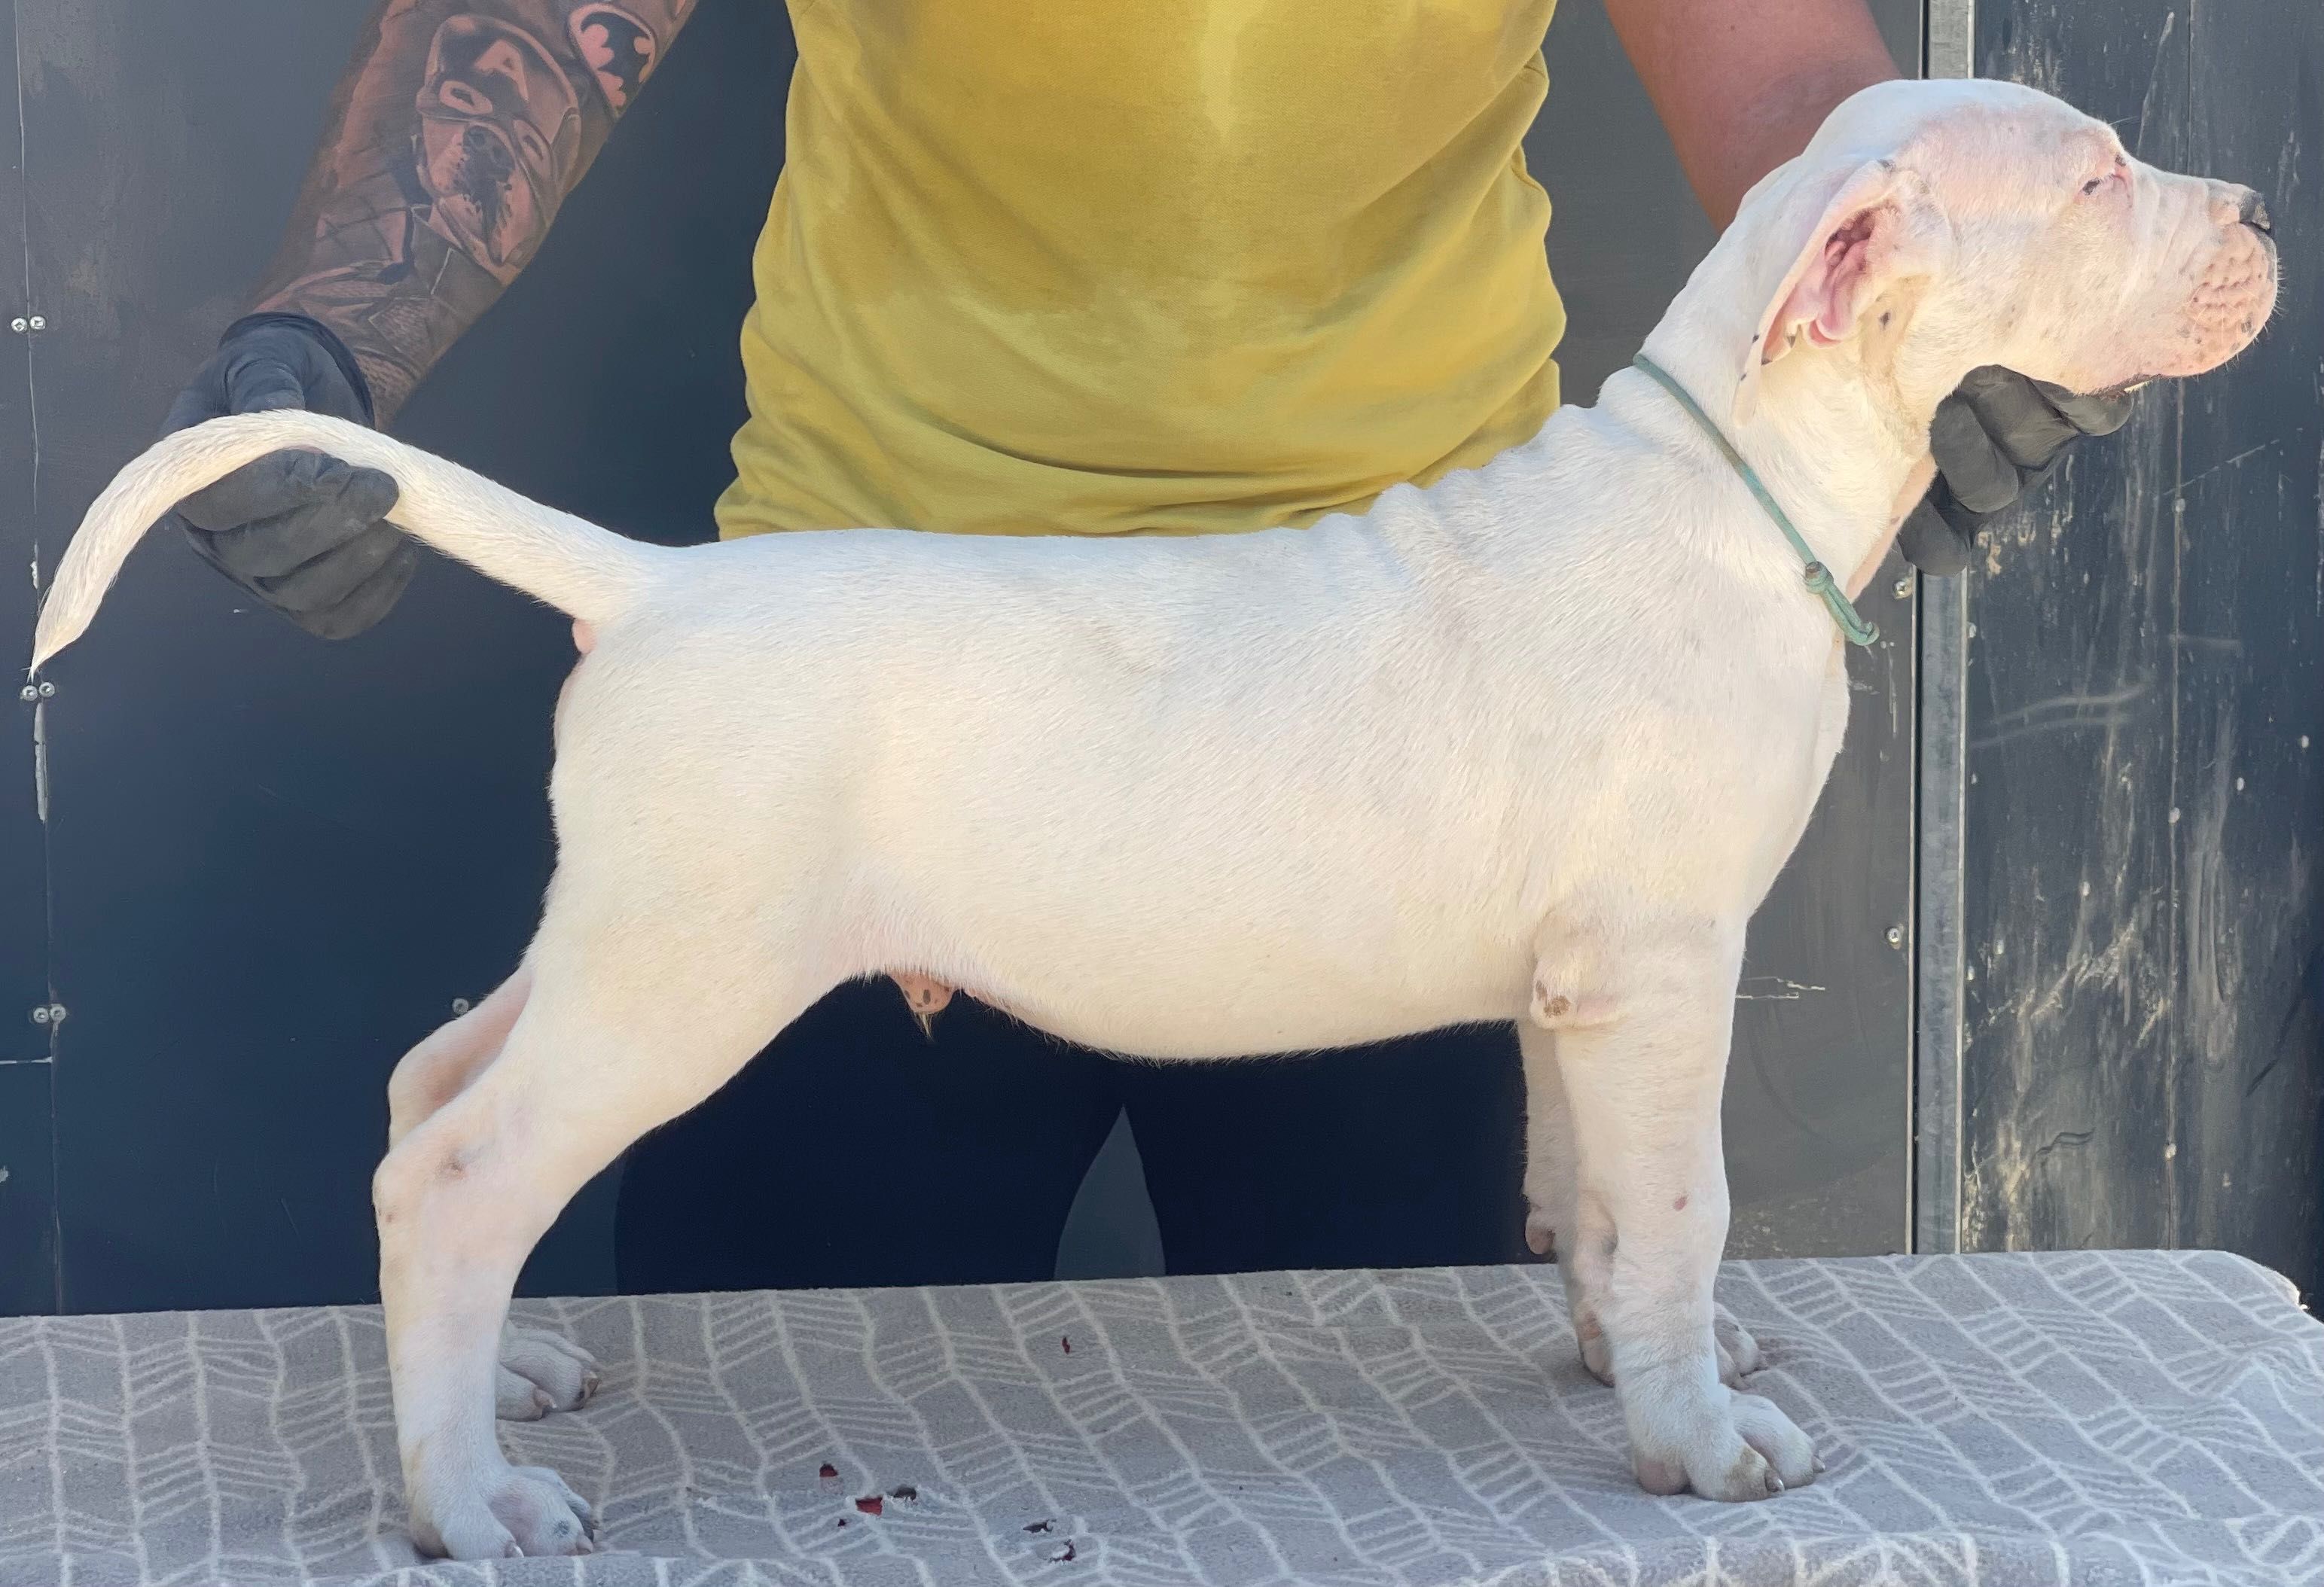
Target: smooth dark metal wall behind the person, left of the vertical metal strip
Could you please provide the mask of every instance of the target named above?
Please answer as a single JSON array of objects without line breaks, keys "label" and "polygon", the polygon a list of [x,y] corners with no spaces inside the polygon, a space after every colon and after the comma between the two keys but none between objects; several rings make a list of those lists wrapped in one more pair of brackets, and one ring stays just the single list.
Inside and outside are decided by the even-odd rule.
[{"label": "smooth dark metal wall behind the person, left of the vertical metal strip", "polygon": [[[0,0],[28,144],[21,186],[14,163],[0,177],[0,258],[28,239],[44,318],[0,342],[0,567],[53,565],[242,309],[367,7]],[[1878,9],[1915,58],[1913,0]],[[788,67],[776,0],[704,0],[400,435],[627,532],[706,534]],[[1592,0],[1569,0],[1550,70],[1529,156],[1587,400],[1710,235]],[[30,595],[0,579],[0,655],[23,651]],[[1910,974],[1887,941],[1910,918],[1910,602],[1868,604],[1892,641],[1859,658],[1848,755],[1752,936],[1729,1104],[1743,1250],[1894,1250],[1910,1222]],[[37,702],[46,820],[35,704],[0,732],[0,1308],[372,1292],[381,1085],[528,934],[567,665],[560,620],[442,562],[386,625],[323,646],[177,544],[132,560]],[[67,1020],[35,1025],[51,1001]],[[583,1197],[532,1287],[609,1285],[607,1206],[604,1185]]]}]

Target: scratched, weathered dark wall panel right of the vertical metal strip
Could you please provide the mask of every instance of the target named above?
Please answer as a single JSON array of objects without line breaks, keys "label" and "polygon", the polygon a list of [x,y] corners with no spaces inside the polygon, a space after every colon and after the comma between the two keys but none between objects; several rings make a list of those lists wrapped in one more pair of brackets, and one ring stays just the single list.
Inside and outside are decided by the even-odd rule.
[{"label": "scratched, weathered dark wall panel right of the vertical metal strip", "polygon": [[1980,74],[2268,198],[2284,300],[1987,548],[1961,1234],[2324,1280],[2324,7],[1978,5]]}]

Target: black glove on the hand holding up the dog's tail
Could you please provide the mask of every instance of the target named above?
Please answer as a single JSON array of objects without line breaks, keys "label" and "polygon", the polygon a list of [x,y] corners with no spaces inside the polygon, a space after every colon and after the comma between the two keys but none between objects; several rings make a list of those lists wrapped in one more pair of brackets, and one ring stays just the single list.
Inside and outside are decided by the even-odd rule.
[{"label": "black glove on the hand holding up the dog's tail", "polygon": [[[297,407],[372,423],[353,353],[302,314],[251,314],[170,404],[163,435],[221,414]],[[386,523],[395,481],[311,451],[279,451],[195,490],[170,514],[205,562],[318,639],[360,634],[421,565]]]}]

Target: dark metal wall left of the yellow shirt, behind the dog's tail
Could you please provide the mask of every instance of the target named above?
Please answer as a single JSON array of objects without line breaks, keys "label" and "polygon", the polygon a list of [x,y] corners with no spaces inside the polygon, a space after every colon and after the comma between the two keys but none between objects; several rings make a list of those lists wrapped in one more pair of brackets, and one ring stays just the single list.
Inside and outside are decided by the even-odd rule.
[{"label": "dark metal wall left of the yellow shirt, behind the dog's tail", "polygon": [[[16,5],[46,565],[242,309],[367,9]],[[741,416],[734,330],[786,77],[779,7],[704,5],[555,244],[400,435],[627,532],[697,539]],[[14,541],[9,567],[28,560]],[[23,602],[0,599],[7,618]],[[44,704],[70,1006],[56,1299],[370,1294],[381,1083],[456,997],[507,974],[548,876],[565,623],[430,562],[390,623],[314,644],[156,537],[105,625],[53,669]],[[30,776],[5,764],[14,799]],[[0,864],[16,850],[9,830]],[[0,1029],[30,1034],[19,1020],[12,1004]],[[544,1248],[546,1283],[602,1287],[604,1229],[600,1187]]]}]

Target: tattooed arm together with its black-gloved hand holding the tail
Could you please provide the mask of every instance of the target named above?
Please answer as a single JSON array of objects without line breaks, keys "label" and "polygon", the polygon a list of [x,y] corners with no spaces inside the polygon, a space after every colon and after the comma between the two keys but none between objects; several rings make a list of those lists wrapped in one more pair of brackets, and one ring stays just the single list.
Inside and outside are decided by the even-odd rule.
[{"label": "tattooed arm together with its black-gloved hand holding the tail", "polygon": [[[253,311],[163,432],[297,407],[386,423],[539,251],[695,0],[383,0]],[[309,634],[376,623],[418,569],[395,481],[311,451],[177,504],[195,555]]]}]

